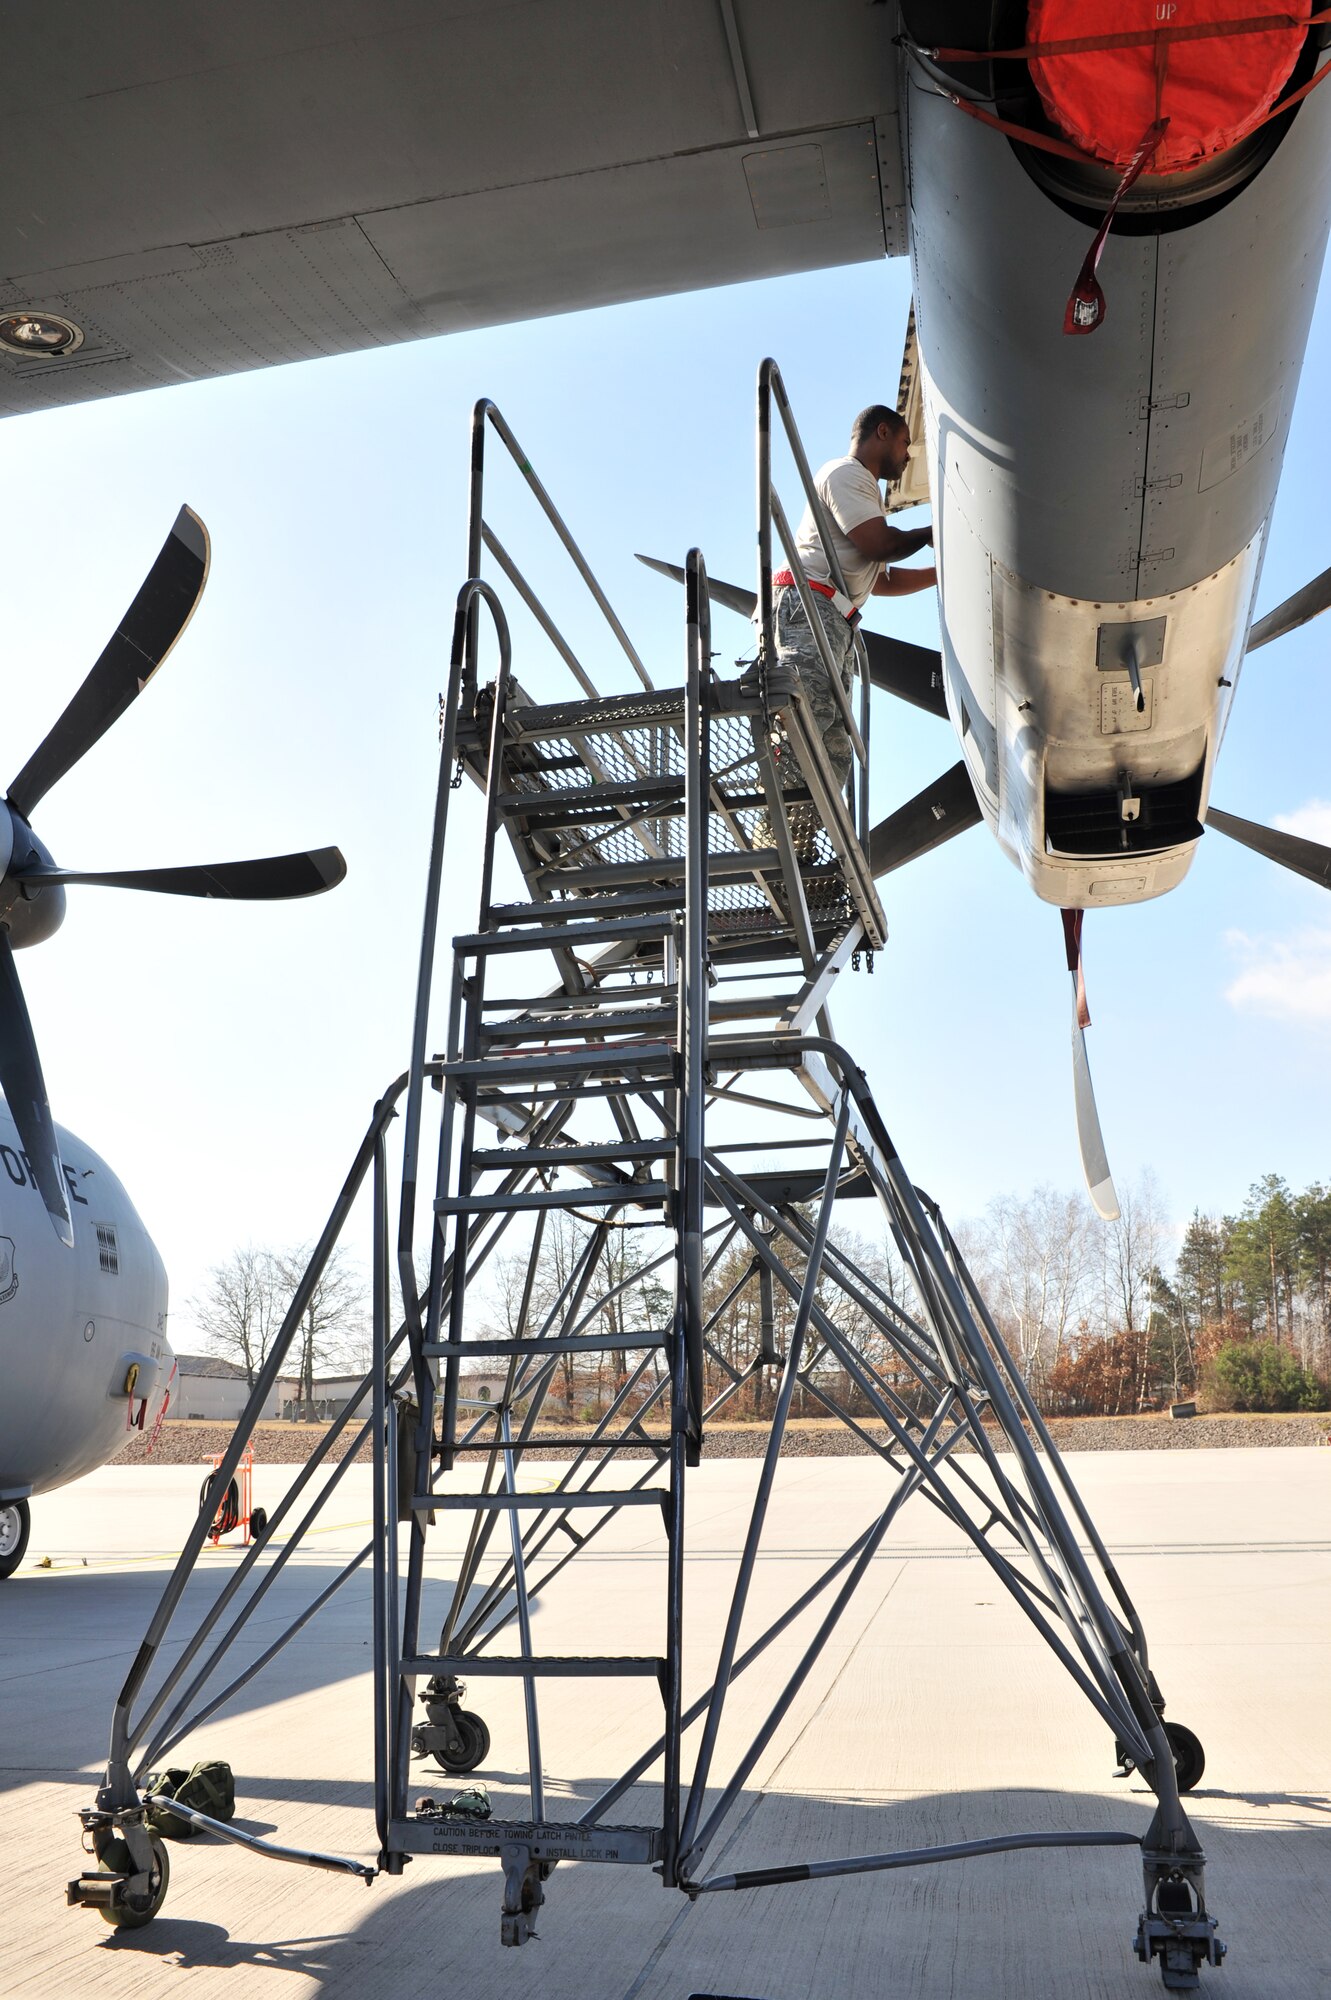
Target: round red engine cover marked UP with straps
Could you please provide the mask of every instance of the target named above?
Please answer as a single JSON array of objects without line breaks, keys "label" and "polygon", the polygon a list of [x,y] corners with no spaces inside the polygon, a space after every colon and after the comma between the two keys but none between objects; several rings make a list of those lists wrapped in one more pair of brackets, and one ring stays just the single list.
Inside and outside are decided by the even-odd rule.
[{"label": "round red engine cover marked UP with straps", "polygon": [[[1031,0],[1027,44],[1267,14],[1307,24],[1311,10],[1313,0]],[[1151,122],[1167,118],[1147,172],[1177,174],[1235,146],[1261,122],[1289,82],[1303,36],[1303,26],[1281,26],[1033,56],[1031,76],[1053,124],[1109,166],[1125,168]]]}]

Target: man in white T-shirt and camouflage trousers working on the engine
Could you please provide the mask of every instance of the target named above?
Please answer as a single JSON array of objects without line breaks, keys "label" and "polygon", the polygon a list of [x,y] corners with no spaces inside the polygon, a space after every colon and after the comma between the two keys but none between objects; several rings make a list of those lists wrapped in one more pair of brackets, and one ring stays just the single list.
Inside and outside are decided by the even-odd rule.
[{"label": "man in white T-shirt and camouflage trousers working on the engine", "polygon": [[[887,566],[891,558],[913,556],[919,548],[933,544],[933,528],[903,530],[887,524],[879,482],[887,480],[889,486],[895,486],[909,456],[911,434],[905,418],[887,408],[885,402],[871,402],[855,418],[847,456],[831,458],[817,468],[813,486],[831,526],[831,546],[845,578],[847,596],[841,596],[831,580],[811,508],[803,510],[795,536],[799,562],[845,690],[853,680],[855,626],[865,598],[901,598],[915,590],[929,590],[937,582],[933,568],[895,570]],[[791,572],[777,570],[771,582],[777,590],[777,658],[781,666],[793,666],[799,672],[799,686],[817,722],[837,786],[845,790],[851,740],[831,692],[823,656],[809,630]]]}]

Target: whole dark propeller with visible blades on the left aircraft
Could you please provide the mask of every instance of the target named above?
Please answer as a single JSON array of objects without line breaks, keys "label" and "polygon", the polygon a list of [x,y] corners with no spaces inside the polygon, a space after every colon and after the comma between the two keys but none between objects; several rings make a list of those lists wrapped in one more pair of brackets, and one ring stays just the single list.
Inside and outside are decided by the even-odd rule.
[{"label": "whole dark propeller with visible blades on the left aircraft", "polygon": [[34,808],[138,700],[194,616],[208,582],[208,530],[188,506],[96,666],[32,752],[0,810],[0,1090],[56,1236],[74,1244],[64,1164],[14,952],[64,920],[64,884],[144,888],[166,896],[272,902],[318,896],[346,876],[338,848],[188,868],[58,868],[30,826]]}]

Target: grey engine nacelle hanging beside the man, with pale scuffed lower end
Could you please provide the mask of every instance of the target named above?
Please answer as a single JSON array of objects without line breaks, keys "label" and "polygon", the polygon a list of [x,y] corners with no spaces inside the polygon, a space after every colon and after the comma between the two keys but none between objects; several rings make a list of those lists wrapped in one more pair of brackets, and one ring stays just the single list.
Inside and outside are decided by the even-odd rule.
[{"label": "grey engine nacelle hanging beside the man, with pale scuffed lower end", "polygon": [[[987,6],[907,20],[943,44],[959,12],[987,28]],[[967,68],[971,92],[999,86],[1003,116],[1029,96],[1021,78]],[[901,104],[943,678],[967,770],[1047,902],[1159,896],[1195,852],[1247,644],[1327,242],[1331,84],[1203,160],[1197,176],[1229,176],[1205,200],[1137,184],[1085,338],[1063,308],[1117,168],[1037,156],[909,60]],[[1095,192],[1099,210],[1083,206]]]}]

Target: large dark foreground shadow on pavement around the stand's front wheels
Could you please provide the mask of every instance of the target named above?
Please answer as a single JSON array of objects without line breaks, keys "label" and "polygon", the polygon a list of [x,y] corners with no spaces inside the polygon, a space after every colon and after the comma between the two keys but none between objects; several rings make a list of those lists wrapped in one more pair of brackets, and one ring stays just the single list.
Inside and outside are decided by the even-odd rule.
[{"label": "large dark foreground shadow on pavement around the stand's front wheels", "polygon": [[[588,1782],[580,1792],[592,1798]],[[1223,1794],[1229,1796],[1229,1794]],[[1277,1794],[1269,1794],[1277,1802]],[[1325,1810],[1323,1798],[1291,1796]],[[656,1794],[620,1808],[650,1822]],[[1231,1944],[1223,2000],[1311,2000],[1325,1992],[1325,1898],[1331,1828],[1207,1824],[1209,1894]],[[1119,1828],[1143,1832],[1145,1800],[1045,1790],[913,1794],[899,1802],[743,1794],[709,1856],[711,1872],[849,1856],[1005,1830]],[[186,1862],[180,1864],[182,1868]],[[446,1874],[444,1868],[452,1868]],[[721,1892],[695,1904],[666,1892],[646,1868],[562,1866],[548,1884],[540,1938],[500,1946],[498,1862],[418,1860],[366,1898],[336,1888],[348,1928],[328,1928],[328,1904],[308,1934],[250,1938],[204,1920],[172,1918],[108,1934],[98,1950],[164,1966],[296,1972],[330,2000],[466,1990],[470,2000],[685,2000],[693,1992],[751,2000],[1115,2000],[1159,1990],[1131,1952],[1141,1868],[1131,1848],[991,1856],[891,1874]],[[320,1878],[330,1882],[334,1878]],[[1281,1886],[1309,1894],[1291,1904]],[[314,1914],[314,1910],[312,1910]],[[322,1926],[322,1928],[320,1928]],[[248,1926],[258,1928],[258,1926]],[[274,1926],[280,1928],[280,1926]],[[1213,1980],[1203,1974],[1203,1990]],[[250,1986],[244,1988],[246,1992]],[[254,1988],[258,1990],[258,1988]],[[278,1990],[278,1988],[274,1988]],[[286,1990],[286,1988],[282,1988]]]}]

